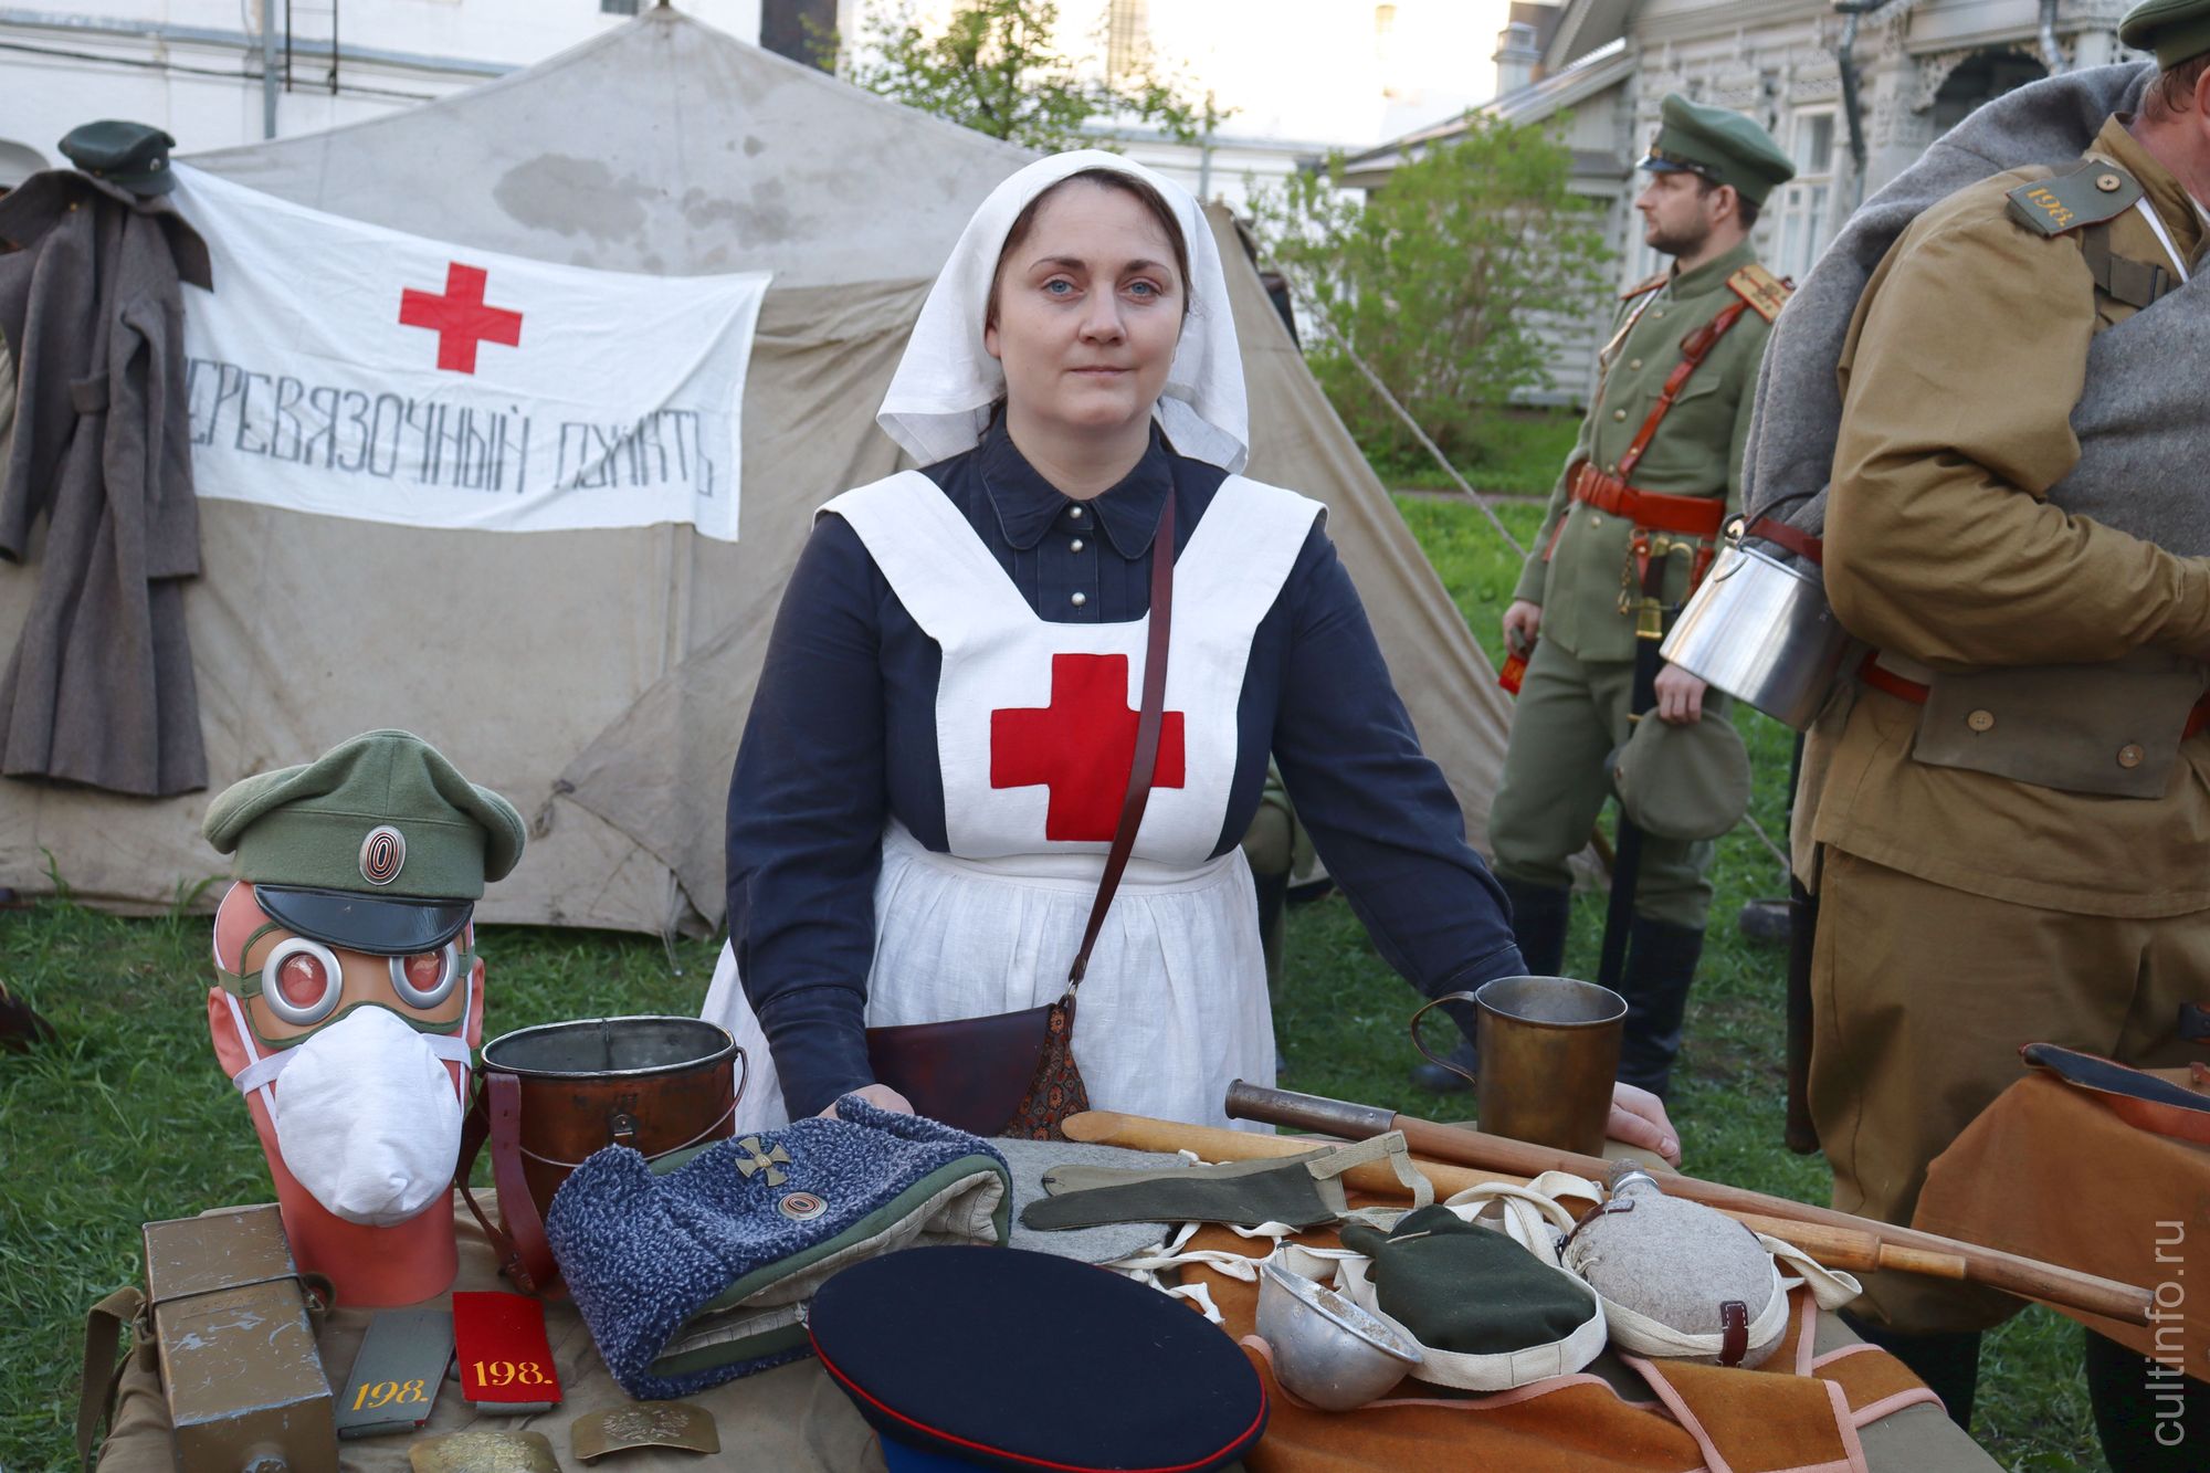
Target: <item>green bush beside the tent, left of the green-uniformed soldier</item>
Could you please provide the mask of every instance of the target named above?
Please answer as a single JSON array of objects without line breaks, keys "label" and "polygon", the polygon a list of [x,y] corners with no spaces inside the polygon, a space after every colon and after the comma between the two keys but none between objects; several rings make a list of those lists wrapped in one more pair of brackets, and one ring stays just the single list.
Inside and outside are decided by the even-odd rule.
[{"label": "green bush beside the tent, left of the green-uniformed soldier", "polygon": [[1543,327],[1598,307],[1602,206],[1569,188],[1574,155],[1554,130],[1481,113],[1364,201],[1341,168],[1335,157],[1253,197],[1266,254],[1322,318],[1306,334],[1313,374],[1379,464],[1425,456],[1353,352],[1452,460],[1481,462],[1494,411],[1549,380]]}]

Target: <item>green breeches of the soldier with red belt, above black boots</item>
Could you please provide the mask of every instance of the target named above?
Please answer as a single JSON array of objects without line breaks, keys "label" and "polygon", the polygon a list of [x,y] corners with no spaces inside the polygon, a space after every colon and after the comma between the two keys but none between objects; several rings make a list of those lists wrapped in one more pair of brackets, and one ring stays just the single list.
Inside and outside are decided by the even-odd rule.
[{"label": "green breeches of the soldier with red belt, above black boots", "polygon": [[[1604,759],[1627,741],[1633,683],[1631,661],[1580,661],[1549,639],[1536,644],[1490,807],[1496,874],[1525,885],[1574,882],[1567,860],[1587,847],[1611,794]],[[1724,699],[1704,719],[1726,721]],[[1644,836],[1635,913],[1699,931],[1711,911],[1711,843]]]}]

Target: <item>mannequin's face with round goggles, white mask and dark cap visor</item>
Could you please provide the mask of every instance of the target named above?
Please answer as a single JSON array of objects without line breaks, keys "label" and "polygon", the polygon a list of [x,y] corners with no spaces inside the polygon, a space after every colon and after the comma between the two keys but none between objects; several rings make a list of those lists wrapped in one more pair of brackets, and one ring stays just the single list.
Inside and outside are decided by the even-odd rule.
[{"label": "mannequin's face with round goggles, white mask and dark cap visor", "polygon": [[473,911],[248,882],[217,909],[245,1057],[232,1084],[261,1093],[285,1168],[338,1219],[400,1223],[451,1188],[482,993]]}]

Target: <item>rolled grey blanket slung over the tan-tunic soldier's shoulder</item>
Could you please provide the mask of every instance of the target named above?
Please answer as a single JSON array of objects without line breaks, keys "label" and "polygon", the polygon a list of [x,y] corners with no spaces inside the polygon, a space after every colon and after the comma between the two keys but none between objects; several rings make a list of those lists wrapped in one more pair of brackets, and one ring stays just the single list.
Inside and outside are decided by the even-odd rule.
[{"label": "rolled grey blanket slung over the tan-tunic soldier's shoulder", "polygon": [[[1753,520],[1777,515],[1810,533],[1825,526],[1841,429],[1834,365],[1865,281],[1903,230],[1967,184],[2029,164],[2071,164],[2111,113],[2135,108],[2153,71],[2148,62],[2097,66],[2007,93],[1936,139],[1850,217],[1766,345],[1744,460],[1744,504]],[[2049,500],[2175,553],[2210,553],[2210,498],[2201,495],[2199,471],[2210,462],[2206,349],[2203,276],[2097,334],[2086,391],[2073,409],[2080,464]],[[2002,365],[1987,372],[2000,374]]]}]

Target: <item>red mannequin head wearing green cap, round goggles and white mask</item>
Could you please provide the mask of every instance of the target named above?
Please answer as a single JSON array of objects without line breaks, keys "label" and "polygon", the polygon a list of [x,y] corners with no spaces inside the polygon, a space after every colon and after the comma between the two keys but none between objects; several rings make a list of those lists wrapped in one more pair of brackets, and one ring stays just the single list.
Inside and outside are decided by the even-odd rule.
[{"label": "red mannequin head wearing green cap, round goggles and white mask", "polygon": [[347,1225],[429,1221],[451,1190],[484,1022],[475,900],[522,856],[522,816],[420,736],[367,732],[234,783],[203,827],[243,876],[214,916],[217,1057],[294,1250],[358,1258]]}]

